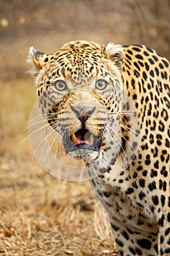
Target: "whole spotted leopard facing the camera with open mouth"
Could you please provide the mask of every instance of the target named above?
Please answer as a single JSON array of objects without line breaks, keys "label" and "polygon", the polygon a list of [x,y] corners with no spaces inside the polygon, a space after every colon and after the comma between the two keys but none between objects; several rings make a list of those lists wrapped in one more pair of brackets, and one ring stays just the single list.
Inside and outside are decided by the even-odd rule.
[{"label": "whole spotted leopard facing the camera with open mouth", "polygon": [[118,255],[170,255],[169,61],[146,45],[31,47],[39,108],[83,159]]}]

